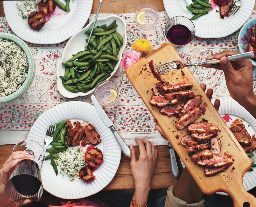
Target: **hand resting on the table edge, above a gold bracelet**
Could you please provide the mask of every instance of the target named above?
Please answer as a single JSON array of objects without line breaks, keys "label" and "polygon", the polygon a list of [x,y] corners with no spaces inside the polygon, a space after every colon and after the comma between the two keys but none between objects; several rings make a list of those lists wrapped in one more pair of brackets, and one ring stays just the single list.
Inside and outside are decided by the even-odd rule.
[{"label": "hand resting on the table edge, above a gold bracelet", "polygon": [[[155,169],[157,150],[150,141],[135,138],[139,146],[139,159],[136,160],[134,147],[131,145],[131,173],[135,181],[135,189],[149,192],[151,178]],[[144,146],[145,144],[145,146]]]}]

